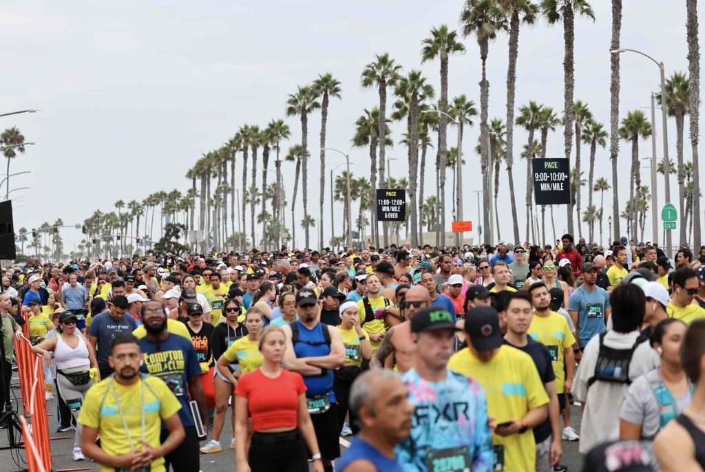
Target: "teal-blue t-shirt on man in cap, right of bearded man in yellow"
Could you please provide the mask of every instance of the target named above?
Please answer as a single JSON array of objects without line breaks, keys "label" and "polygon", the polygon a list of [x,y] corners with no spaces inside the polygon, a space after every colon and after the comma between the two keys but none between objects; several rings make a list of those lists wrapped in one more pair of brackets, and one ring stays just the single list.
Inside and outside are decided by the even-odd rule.
[{"label": "teal-blue t-shirt on man in cap, right of bearded man in yellow", "polygon": [[580,349],[584,349],[589,340],[605,330],[607,309],[611,309],[610,296],[600,287],[588,292],[584,285],[581,285],[570,294],[568,311],[577,311],[575,332]]}]

